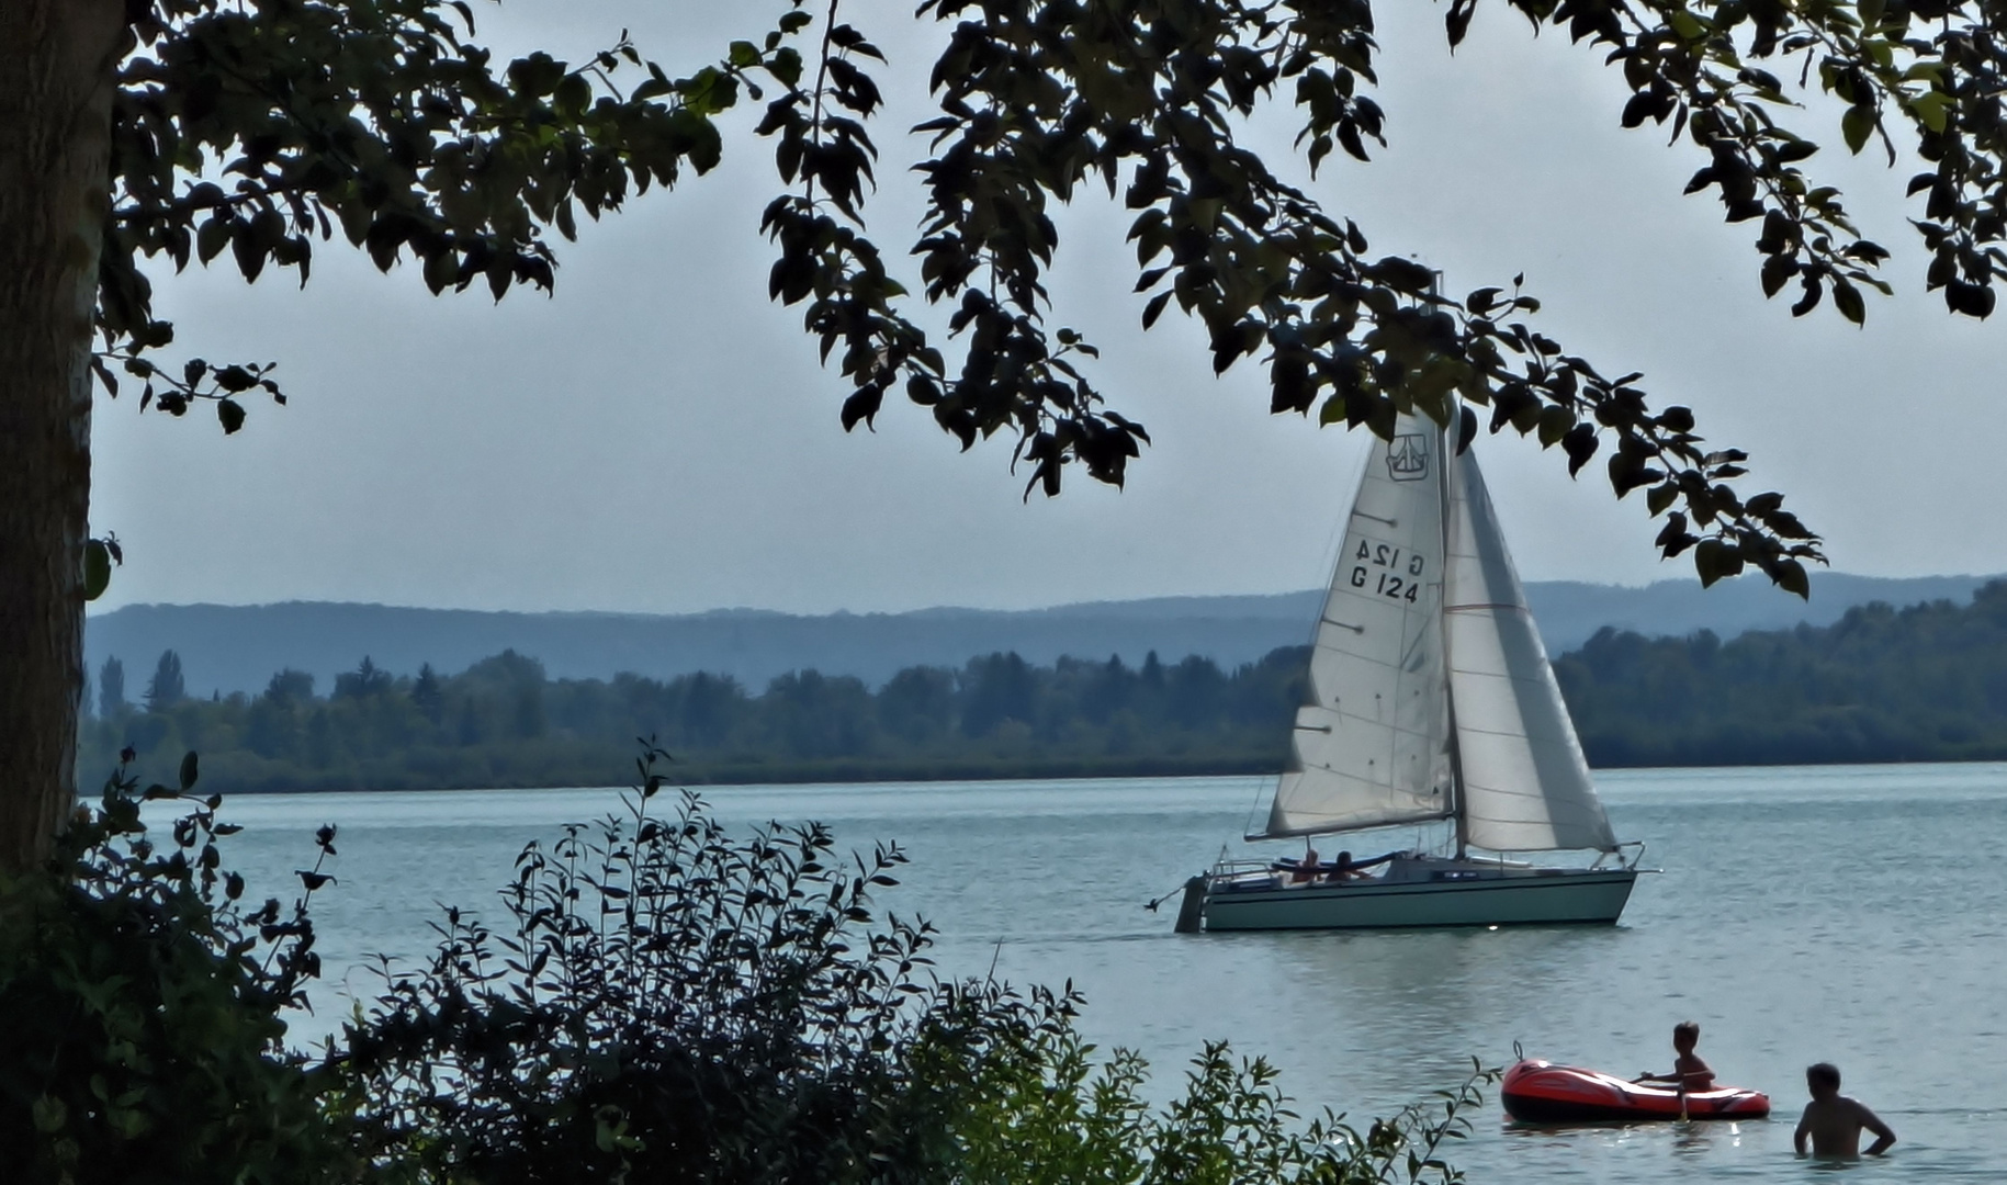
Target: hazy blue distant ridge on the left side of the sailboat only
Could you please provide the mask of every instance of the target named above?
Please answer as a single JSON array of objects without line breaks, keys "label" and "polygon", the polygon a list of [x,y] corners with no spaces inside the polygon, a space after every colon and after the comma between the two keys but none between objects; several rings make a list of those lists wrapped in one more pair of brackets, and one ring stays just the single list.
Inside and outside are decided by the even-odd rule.
[{"label": "hazy blue distant ridge on the left side of the sailboat only", "polygon": [[672,679],[710,671],[761,689],[777,675],[799,669],[879,685],[905,667],[961,667],[971,655],[995,651],[1016,651],[1042,665],[1062,655],[1122,655],[1136,665],[1150,651],[1166,657],[1218,655],[1218,661],[1234,665],[1307,641],[1315,613],[1313,595],[1180,597],[1026,613],[921,609],[827,617],[763,611],[678,617],[474,613],[327,603],[134,605],[92,617],[84,629],[84,651],[92,675],[108,655],[118,655],[128,695],[134,697],[165,649],[181,655],[193,695],[263,691],[283,667],[307,671],[327,689],[363,655],[395,673],[413,673],[421,663],[442,673],[462,671],[506,649],[540,659],[554,679],[620,671]]}]

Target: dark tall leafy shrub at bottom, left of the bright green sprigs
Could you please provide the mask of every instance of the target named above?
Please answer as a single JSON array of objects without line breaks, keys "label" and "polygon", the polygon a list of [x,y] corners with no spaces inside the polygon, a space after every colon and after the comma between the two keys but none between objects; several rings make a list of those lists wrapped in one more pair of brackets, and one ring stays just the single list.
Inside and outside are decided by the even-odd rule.
[{"label": "dark tall leafy shrub at bottom, left of the bright green sprigs", "polygon": [[907,1052],[969,1069],[1070,1002],[921,984],[929,928],[869,928],[897,848],[731,842],[688,793],[650,817],[654,759],[626,815],[524,850],[502,932],[448,910],[349,1030],[375,1155],[492,1185],[945,1179]]}]

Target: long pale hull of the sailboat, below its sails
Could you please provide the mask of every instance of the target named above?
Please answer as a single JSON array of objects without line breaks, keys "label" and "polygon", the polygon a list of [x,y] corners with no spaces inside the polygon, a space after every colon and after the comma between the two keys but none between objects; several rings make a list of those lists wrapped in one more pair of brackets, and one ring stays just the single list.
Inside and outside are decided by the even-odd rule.
[{"label": "long pale hull of the sailboat, below its sails", "polygon": [[1208,932],[1608,926],[1624,914],[1636,882],[1630,868],[1447,868],[1413,880],[1305,886],[1214,876],[1196,892]]}]

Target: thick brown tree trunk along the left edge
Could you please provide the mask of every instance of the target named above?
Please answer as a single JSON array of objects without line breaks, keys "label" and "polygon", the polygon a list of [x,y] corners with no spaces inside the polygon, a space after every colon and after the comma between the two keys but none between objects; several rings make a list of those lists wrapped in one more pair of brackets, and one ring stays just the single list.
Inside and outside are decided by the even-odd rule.
[{"label": "thick brown tree trunk along the left edge", "polygon": [[0,0],[0,872],[76,797],[90,313],[120,0]]}]

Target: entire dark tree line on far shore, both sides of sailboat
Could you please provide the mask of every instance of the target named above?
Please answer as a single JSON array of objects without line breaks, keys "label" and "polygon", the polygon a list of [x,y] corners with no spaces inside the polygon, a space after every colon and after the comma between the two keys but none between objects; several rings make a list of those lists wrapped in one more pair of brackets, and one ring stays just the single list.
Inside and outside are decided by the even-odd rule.
[{"label": "entire dark tree line on far shore, both sides of sailboat", "polygon": [[[197,749],[205,783],[237,791],[602,785],[636,737],[690,783],[1272,773],[1305,659],[1284,647],[1222,671],[997,653],[877,689],[797,671],[753,693],[704,673],[550,679],[506,651],[458,675],[363,659],[325,695],[281,671],[259,695],[191,699],[169,651],[138,705],[118,659],[96,673],[80,773],[88,785],[130,745],[147,777]],[[1969,607],[1869,605],[1732,641],[1602,631],[1555,673],[1598,767],[2007,759],[2007,582]]]}]

